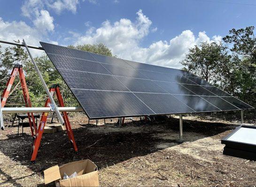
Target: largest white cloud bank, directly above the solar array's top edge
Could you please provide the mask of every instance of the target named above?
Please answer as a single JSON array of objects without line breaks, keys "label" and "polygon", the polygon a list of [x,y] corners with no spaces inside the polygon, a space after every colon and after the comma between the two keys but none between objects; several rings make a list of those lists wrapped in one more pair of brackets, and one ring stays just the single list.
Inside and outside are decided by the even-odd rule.
[{"label": "largest white cloud bank, directly above the solar array's top edge", "polygon": [[221,36],[213,36],[210,39],[205,32],[194,36],[191,30],[185,30],[169,41],[160,40],[148,47],[141,47],[141,41],[148,36],[150,30],[152,31],[151,24],[149,18],[139,10],[135,22],[124,18],[114,23],[107,20],[100,28],[87,29],[85,35],[72,32],[68,39],[75,39],[75,44],[105,43],[119,58],[174,68],[182,67],[180,60],[185,58],[188,49],[194,45],[203,41],[221,40]]}]

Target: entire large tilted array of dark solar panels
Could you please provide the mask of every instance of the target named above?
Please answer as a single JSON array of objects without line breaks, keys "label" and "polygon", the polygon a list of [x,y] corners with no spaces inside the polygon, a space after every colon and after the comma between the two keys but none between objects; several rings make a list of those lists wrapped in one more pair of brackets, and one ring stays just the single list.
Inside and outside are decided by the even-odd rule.
[{"label": "entire large tilted array of dark solar panels", "polygon": [[40,43],[90,119],[253,108],[190,72]]}]

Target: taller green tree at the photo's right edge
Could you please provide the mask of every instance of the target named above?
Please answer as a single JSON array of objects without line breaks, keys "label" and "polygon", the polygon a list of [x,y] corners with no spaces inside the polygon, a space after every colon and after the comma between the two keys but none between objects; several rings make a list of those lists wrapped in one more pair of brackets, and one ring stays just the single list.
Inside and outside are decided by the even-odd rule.
[{"label": "taller green tree at the photo's right edge", "polygon": [[254,27],[231,29],[223,40],[233,45],[234,94],[243,101],[256,106],[256,38]]}]

